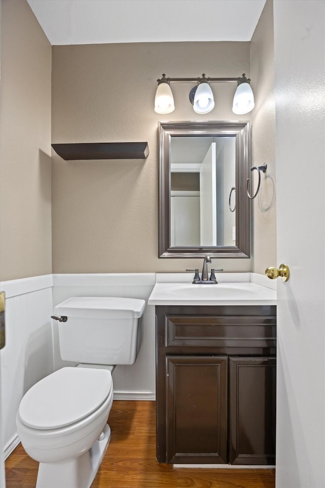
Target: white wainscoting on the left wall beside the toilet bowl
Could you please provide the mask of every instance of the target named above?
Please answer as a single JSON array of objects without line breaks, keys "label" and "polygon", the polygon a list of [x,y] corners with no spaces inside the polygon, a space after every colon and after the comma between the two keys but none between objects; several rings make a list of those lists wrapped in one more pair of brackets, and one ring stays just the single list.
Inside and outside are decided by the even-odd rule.
[{"label": "white wainscoting on the left wall beside the toilet bowl", "polygon": [[6,346],[1,350],[1,436],[5,457],[19,443],[16,412],[25,392],[54,371],[52,275],[0,283],[6,293]]}]

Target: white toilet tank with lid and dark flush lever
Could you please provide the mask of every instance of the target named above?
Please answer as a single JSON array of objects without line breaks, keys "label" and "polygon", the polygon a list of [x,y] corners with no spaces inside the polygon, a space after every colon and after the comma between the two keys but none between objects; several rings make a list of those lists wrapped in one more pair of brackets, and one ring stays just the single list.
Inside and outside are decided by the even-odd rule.
[{"label": "white toilet tank with lid and dark flush lever", "polygon": [[72,297],[54,308],[63,360],[88,364],[134,364],[145,301],[136,298]]}]

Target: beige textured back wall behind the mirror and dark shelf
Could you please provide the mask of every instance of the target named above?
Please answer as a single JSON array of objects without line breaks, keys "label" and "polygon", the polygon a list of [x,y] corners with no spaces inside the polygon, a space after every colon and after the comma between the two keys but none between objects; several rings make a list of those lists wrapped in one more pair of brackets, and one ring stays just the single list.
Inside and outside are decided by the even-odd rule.
[{"label": "beige textured back wall behind the mirror and dark shelf", "polygon": [[[156,79],[249,75],[249,42],[53,46],[52,142],[148,141],[145,161],[66,162],[52,151],[53,272],[184,271],[201,259],[158,259],[158,120],[234,116],[235,84],[213,84],[216,106],[193,112],[192,84],[173,84],[175,111],[153,110]],[[223,259],[249,271],[249,259]]]}]

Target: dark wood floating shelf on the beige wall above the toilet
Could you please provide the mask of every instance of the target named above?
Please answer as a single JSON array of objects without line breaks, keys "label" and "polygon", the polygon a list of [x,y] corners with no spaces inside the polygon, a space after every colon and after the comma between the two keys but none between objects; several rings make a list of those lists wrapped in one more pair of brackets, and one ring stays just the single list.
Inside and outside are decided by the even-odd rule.
[{"label": "dark wood floating shelf on the beige wall above the toilet", "polygon": [[147,142],[82,142],[52,144],[55,152],[66,161],[85,159],[146,159]]}]

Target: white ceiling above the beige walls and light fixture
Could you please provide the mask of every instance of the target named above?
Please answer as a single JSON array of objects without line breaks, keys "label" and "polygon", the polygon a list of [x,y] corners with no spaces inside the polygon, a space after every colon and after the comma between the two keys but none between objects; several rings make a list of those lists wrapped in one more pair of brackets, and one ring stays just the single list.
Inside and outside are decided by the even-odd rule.
[{"label": "white ceiling above the beige walls and light fixture", "polygon": [[52,45],[250,41],[266,0],[27,0]]}]

